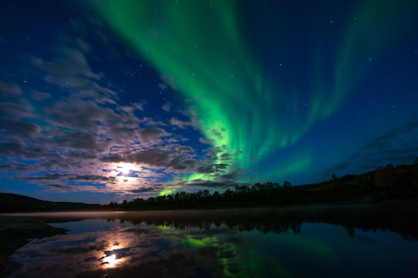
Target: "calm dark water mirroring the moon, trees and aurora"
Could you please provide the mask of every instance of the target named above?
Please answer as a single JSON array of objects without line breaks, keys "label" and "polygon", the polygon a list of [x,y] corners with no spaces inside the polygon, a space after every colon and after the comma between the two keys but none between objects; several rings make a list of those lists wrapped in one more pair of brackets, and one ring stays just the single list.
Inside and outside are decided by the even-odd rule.
[{"label": "calm dark water mirroring the moon, trees and aurora", "polygon": [[43,215],[11,277],[418,277],[413,203]]}]

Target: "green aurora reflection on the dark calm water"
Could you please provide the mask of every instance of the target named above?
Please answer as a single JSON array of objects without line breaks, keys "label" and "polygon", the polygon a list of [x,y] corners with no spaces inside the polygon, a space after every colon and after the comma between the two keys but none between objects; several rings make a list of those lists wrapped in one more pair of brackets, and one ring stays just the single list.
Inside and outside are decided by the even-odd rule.
[{"label": "green aurora reflection on the dark calm water", "polygon": [[[231,235],[222,233],[201,237],[187,235],[171,226],[158,227],[165,234],[164,238],[168,238],[176,249],[190,249],[191,252],[205,248],[216,250],[218,265],[224,270],[225,277],[272,277],[277,274],[299,277],[300,273],[291,271],[286,265],[289,250],[300,250],[313,258],[326,259],[330,264],[339,263],[338,254],[324,240],[291,232],[263,234],[260,231],[241,231],[242,235],[235,235],[238,237],[235,242],[231,241]],[[244,238],[245,244],[242,245]],[[279,249],[270,249],[271,246]],[[283,256],[282,261],[277,260],[280,256]],[[237,265],[240,268],[237,269]],[[231,269],[237,272],[232,273]]]}]

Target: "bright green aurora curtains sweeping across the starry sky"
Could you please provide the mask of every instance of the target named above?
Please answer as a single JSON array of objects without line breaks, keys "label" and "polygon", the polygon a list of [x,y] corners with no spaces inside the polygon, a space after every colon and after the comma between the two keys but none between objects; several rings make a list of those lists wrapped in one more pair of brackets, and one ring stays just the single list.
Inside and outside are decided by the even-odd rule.
[{"label": "bright green aurora curtains sweeping across the starry sky", "polygon": [[[221,155],[227,153],[235,167],[253,167],[261,178],[295,173],[312,163],[311,150],[304,146],[288,154],[286,148],[339,111],[366,77],[370,57],[385,53],[376,44],[387,43],[399,15],[408,20],[412,10],[394,1],[367,1],[353,5],[345,17],[330,19],[326,10],[313,6],[320,11],[304,22],[309,53],[288,57],[295,45],[286,39],[288,22],[265,18],[256,26],[258,36],[270,40],[274,49],[260,54],[251,46],[251,32],[242,19],[247,14],[239,3],[104,0],[94,8],[162,79],[172,80],[172,88],[193,101],[185,109],[219,150],[214,163],[222,163]],[[329,24],[336,31],[323,31]],[[279,69],[281,60],[287,70]],[[270,161],[284,156],[286,165],[272,163],[269,169],[256,169],[251,162],[251,157]],[[192,174],[186,180],[203,176]]]}]

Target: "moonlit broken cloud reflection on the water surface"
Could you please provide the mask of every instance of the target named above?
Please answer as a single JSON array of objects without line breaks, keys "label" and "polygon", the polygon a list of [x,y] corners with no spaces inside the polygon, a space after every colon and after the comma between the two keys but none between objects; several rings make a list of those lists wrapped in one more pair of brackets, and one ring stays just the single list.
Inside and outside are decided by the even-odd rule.
[{"label": "moonlit broken cloud reflection on the water surface", "polygon": [[132,226],[56,235],[20,249],[15,260],[24,266],[12,277],[118,277],[120,272],[127,277],[134,272],[145,277],[222,277],[237,268],[231,258],[237,256],[233,250],[238,242],[242,244],[239,231],[226,228],[214,234]]}]

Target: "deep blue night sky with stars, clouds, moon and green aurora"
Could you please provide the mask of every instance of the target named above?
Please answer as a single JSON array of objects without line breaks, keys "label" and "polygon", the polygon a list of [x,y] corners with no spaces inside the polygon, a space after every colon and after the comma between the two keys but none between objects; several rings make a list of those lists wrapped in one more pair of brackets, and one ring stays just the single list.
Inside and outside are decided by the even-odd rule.
[{"label": "deep blue night sky with stars, clouds, moon and green aurora", "polygon": [[109,203],[418,157],[418,1],[0,5],[0,192]]}]

